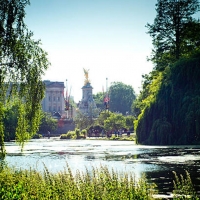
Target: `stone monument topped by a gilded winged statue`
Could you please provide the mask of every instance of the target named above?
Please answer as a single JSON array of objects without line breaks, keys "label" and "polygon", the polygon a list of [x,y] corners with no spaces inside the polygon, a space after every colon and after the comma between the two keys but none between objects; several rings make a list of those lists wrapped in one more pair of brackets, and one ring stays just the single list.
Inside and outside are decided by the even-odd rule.
[{"label": "stone monument topped by a gilded winged statue", "polygon": [[78,108],[82,114],[85,114],[88,117],[97,117],[98,109],[92,95],[93,87],[89,80],[89,69],[86,70],[83,68],[83,71],[85,80],[84,86],[82,87],[82,100],[79,102]]}]

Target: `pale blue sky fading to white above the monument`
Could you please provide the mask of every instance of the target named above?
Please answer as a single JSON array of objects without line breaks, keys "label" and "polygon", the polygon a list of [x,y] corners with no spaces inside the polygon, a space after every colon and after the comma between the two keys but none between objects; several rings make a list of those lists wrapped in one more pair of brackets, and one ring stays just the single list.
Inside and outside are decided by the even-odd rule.
[{"label": "pale blue sky fading to white above the monument", "polygon": [[[82,98],[83,68],[93,94],[114,82],[139,93],[142,75],[153,65],[147,23],[156,0],[30,0],[25,23],[41,40],[51,63],[43,80],[62,81],[76,102]],[[107,81],[106,81],[107,79]],[[66,81],[67,80],[67,81]]]}]

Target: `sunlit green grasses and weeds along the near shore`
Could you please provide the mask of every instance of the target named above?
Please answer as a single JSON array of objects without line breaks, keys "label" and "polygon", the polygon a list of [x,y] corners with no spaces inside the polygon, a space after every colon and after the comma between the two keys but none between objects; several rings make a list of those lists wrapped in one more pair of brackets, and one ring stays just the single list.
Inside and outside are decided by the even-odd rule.
[{"label": "sunlit green grasses and weeds along the near shore", "polygon": [[[196,196],[190,176],[186,179],[175,174],[174,199],[199,199]],[[36,170],[3,168],[0,172],[1,199],[154,199],[157,191],[154,183],[148,183],[145,176],[137,180],[134,174],[117,173],[101,166],[92,172],[77,171],[74,175],[67,166],[57,174]],[[180,196],[182,195],[182,196]]]}]

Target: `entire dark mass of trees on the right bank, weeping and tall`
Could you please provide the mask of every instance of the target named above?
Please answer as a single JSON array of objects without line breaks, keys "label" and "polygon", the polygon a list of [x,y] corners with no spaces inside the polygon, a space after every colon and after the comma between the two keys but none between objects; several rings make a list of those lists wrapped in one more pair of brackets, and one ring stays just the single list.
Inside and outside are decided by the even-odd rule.
[{"label": "entire dark mass of trees on the right bank, weeping and tall", "polygon": [[154,49],[153,71],[144,75],[132,106],[138,143],[200,143],[200,22],[197,0],[158,0],[147,24]]}]

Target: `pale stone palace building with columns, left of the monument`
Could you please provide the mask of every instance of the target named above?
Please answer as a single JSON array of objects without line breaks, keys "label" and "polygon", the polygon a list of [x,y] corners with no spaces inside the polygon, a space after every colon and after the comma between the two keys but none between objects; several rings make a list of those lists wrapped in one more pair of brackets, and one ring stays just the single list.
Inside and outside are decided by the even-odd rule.
[{"label": "pale stone palace building with columns, left of the monument", "polygon": [[65,113],[65,99],[64,99],[64,82],[52,82],[45,80],[46,86],[45,98],[42,101],[42,109],[44,112],[55,113],[61,115]]}]

